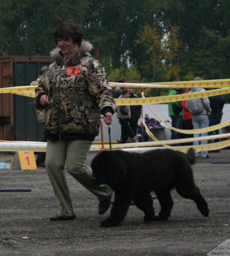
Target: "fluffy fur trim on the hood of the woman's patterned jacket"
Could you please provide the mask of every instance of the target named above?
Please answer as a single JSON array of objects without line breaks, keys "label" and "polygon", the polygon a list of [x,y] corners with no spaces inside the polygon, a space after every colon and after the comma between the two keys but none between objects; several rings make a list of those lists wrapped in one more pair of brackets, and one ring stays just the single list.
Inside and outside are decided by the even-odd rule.
[{"label": "fluffy fur trim on the hood of the woman's patterned jacket", "polygon": [[[93,48],[93,45],[90,42],[82,40],[79,48],[76,48],[75,52],[71,56],[69,56],[68,64],[69,65],[74,64],[75,62],[79,61],[81,57],[83,57],[85,55],[90,56],[89,51],[91,51],[92,48]],[[58,64],[63,63],[64,56],[61,53],[59,47],[52,50],[50,52],[50,56],[51,56],[52,60],[57,62]]]}]

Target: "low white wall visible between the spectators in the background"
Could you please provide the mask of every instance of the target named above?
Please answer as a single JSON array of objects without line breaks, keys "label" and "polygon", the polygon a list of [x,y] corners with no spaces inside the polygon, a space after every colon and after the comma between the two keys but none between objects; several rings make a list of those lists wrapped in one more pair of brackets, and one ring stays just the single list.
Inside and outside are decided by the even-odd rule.
[{"label": "low white wall visible between the spectators in the background", "polygon": [[[169,116],[168,112],[168,104],[151,104],[149,105],[150,108],[155,111],[164,121],[171,121],[171,118]],[[145,114],[148,114],[150,117],[153,117],[157,119],[154,114],[149,110],[147,105],[143,105],[143,118],[145,117]],[[230,104],[225,104],[223,109],[223,116],[221,122],[224,123],[226,121],[230,120]],[[108,134],[108,126],[105,125],[103,122],[103,138],[104,141],[109,141],[109,134]],[[121,138],[121,125],[119,124],[119,120],[117,118],[117,113],[113,115],[113,123],[110,126],[111,131],[111,141],[116,141],[117,139]],[[230,132],[230,127],[227,126],[226,128],[220,129],[220,133],[228,133]],[[171,132],[168,129],[165,129],[165,136],[166,139],[170,138]],[[164,134],[162,131],[156,131],[156,134],[154,134],[159,140],[164,139]],[[95,141],[101,141],[101,132],[100,134],[95,138]]]}]

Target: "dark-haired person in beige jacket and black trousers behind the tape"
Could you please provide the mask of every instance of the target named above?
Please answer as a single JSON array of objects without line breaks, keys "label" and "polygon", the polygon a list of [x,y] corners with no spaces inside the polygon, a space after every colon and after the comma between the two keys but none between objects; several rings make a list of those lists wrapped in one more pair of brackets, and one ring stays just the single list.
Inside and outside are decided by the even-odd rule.
[{"label": "dark-haired person in beige jacket and black trousers behind the tape", "polygon": [[[129,98],[129,90],[124,89],[121,92],[120,98]],[[131,111],[129,105],[121,105],[117,107],[117,118],[121,124],[121,143],[126,143],[127,139],[132,136],[132,130],[129,126],[129,119],[131,118]]]}]

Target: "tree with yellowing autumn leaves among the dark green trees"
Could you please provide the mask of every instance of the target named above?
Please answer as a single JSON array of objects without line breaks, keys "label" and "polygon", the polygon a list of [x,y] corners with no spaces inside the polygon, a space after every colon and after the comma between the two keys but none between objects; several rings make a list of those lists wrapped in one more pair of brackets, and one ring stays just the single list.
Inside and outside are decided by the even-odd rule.
[{"label": "tree with yellowing autumn leaves among the dark green trees", "polygon": [[[143,51],[140,58],[144,58],[139,66],[143,76],[148,78],[149,82],[178,77],[180,72],[178,28],[172,27],[168,33],[165,33],[161,26],[147,24],[138,37],[136,46],[139,51]],[[139,60],[137,62],[140,63]]]}]

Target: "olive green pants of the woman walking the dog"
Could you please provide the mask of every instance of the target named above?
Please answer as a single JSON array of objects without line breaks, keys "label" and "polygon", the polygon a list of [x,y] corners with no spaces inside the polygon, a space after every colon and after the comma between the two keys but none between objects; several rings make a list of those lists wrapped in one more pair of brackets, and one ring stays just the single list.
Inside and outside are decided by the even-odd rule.
[{"label": "olive green pants of the woman walking the dog", "polygon": [[58,214],[68,217],[74,214],[72,200],[67,186],[64,167],[68,173],[99,200],[108,198],[109,186],[91,184],[92,170],[86,165],[86,158],[92,142],[88,140],[48,140],[46,148],[46,170],[54,189]]}]

